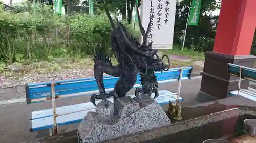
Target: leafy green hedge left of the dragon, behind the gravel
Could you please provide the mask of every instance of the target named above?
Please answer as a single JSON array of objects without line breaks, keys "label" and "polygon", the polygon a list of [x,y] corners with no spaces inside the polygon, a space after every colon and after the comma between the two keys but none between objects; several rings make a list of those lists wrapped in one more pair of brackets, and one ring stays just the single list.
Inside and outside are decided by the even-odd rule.
[{"label": "leafy green hedge left of the dragon, behind the gravel", "polygon": [[0,61],[5,63],[92,55],[95,45],[111,55],[111,27],[105,14],[56,15],[49,6],[39,5],[36,14],[1,9],[0,25]]}]

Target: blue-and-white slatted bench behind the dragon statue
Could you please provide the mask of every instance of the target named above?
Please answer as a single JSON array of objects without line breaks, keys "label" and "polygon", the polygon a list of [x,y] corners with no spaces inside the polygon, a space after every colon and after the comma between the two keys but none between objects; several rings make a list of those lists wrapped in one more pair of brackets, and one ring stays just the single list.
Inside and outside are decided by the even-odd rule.
[{"label": "blue-and-white slatted bench behind the dragon statue", "polygon": [[[175,102],[179,96],[181,81],[190,79],[193,67],[173,68],[165,72],[157,72],[158,83],[168,83],[179,81],[178,92],[170,92],[167,90],[160,90],[159,97],[155,100],[160,104],[168,104],[169,101]],[[104,76],[103,82],[106,92],[113,90],[117,77]],[[141,87],[141,81],[138,75],[137,81],[133,88]],[[33,83],[26,85],[26,98],[27,104],[38,103],[43,101],[52,101],[51,109],[44,109],[32,111],[30,115],[30,132],[50,129],[52,132],[57,133],[58,126],[69,125],[72,123],[80,122],[87,112],[94,111],[95,106],[91,102],[62,106],[56,108],[55,99],[71,98],[79,96],[91,96],[98,94],[98,87],[95,78],[82,78],[72,80],[61,80],[52,82]],[[135,95],[130,95],[135,97]],[[152,94],[152,97],[154,94]],[[109,99],[113,102],[113,99]],[[179,100],[183,99],[179,97]],[[96,101],[98,103],[100,101]]]}]

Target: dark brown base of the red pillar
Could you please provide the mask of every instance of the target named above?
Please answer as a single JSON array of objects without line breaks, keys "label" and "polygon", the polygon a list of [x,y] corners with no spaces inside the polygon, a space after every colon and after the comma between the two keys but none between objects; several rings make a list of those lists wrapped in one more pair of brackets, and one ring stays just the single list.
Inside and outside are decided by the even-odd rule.
[{"label": "dark brown base of the red pillar", "polygon": [[[201,73],[201,89],[197,95],[199,102],[208,102],[229,97],[229,92],[237,90],[238,78],[228,75],[228,63],[253,68],[256,56],[231,56],[216,52],[206,52],[204,70]],[[242,80],[241,88],[247,89],[249,81]]]}]

